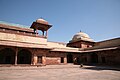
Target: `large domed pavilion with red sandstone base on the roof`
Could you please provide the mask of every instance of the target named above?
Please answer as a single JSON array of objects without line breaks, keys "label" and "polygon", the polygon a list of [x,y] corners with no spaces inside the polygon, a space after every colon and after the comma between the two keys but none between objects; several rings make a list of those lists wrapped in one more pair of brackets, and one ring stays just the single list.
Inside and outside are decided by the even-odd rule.
[{"label": "large domed pavilion with red sandstone base on the roof", "polygon": [[69,41],[67,46],[69,47],[76,47],[76,48],[88,48],[92,47],[94,45],[93,39],[90,38],[90,36],[84,32],[78,32],[76,33],[72,40]]}]

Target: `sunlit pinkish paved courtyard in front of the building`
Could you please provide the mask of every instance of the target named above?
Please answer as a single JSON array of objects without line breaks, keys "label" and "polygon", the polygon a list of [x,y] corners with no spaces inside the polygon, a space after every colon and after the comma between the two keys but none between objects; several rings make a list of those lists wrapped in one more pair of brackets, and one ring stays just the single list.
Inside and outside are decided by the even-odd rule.
[{"label": "sunlit pinkish paved courtyard in front of the building", "polygon": [[120,80],[119,68],[79,65],[0,67],[0,80]]}]

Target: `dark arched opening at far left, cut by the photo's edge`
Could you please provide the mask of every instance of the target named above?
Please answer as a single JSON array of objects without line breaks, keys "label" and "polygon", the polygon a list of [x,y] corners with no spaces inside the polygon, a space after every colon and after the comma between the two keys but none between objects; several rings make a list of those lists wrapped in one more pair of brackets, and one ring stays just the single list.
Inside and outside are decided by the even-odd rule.
[{"label": "dark arched opening at far left, cut by the photo's edge", "polygon": [[0,50],[0,64],[14,64],[15,63],[15,51],[11,48],[5,48]]}]

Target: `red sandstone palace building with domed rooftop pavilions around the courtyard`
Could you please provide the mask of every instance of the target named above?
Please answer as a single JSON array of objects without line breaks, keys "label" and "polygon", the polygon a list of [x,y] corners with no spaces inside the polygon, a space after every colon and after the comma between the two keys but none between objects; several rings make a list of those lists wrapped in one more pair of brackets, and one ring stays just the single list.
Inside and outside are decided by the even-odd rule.
[{"label": "red sandstone palace building with domed rooftop pavilions around the courtyard", "polygon": [[52,25],[47,21],[38,19],[30,28],[22,27],[0,22],[0,65],[120,65],[120,38],[94,42],[89,35],[79,32],[69,43],[49,42],[47,35]]}]

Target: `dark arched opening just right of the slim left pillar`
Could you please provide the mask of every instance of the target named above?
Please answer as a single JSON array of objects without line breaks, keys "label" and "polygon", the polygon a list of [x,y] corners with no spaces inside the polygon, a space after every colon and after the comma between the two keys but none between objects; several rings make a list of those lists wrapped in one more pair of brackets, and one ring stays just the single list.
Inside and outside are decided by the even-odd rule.
[{"label": "dark arched opening just right of the slim left pillar", "polygon": [[31,64],[31,52],[27,49],[22,49],[18,52],[18,64]]}]

